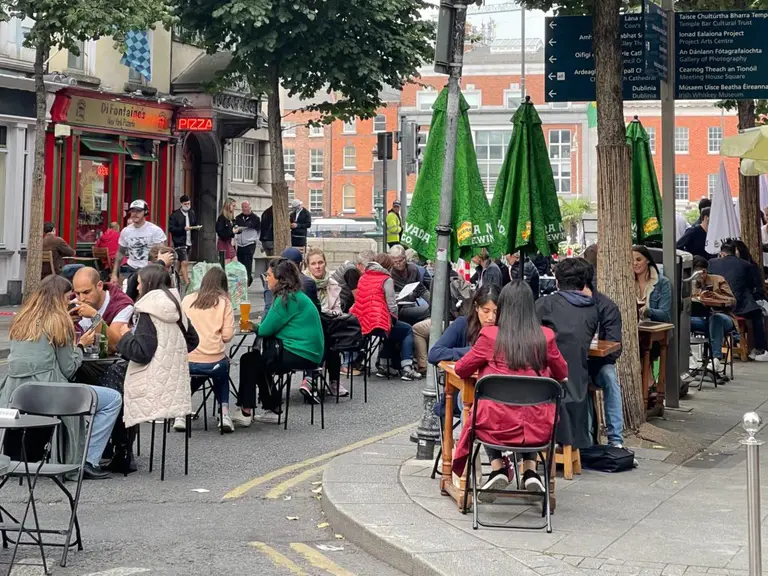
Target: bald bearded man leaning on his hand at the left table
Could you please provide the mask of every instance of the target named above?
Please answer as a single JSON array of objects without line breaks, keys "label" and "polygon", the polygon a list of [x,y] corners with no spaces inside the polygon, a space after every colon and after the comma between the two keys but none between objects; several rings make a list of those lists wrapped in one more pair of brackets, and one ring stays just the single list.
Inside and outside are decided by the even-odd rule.
[{"label": "bald bearded man leaning on his hand at the left table", "polygon": [[[102,321],[107,326],[130,323],[133,301],[117,285],[102,282],[95,268],[80,268],[72,279],[72,288],[78,301],[72,314],[80,318],[78,328],[83,332]],[[114,337],[112,340],[110,351],[117,345]]]}]

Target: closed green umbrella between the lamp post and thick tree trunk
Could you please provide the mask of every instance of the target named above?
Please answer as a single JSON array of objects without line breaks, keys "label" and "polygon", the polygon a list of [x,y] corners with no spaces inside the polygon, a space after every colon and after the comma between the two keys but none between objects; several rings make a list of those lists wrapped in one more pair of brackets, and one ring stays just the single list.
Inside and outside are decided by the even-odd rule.
[{"label": "closed green umbrella between the lamp post and thick tree trunk", "polygon": [[526,96],[512,123],[512,139],[491,202],[497,218],[491,253],[556,254],[558,244],[565,241],[565,229],[541,118],[530,97]]}]

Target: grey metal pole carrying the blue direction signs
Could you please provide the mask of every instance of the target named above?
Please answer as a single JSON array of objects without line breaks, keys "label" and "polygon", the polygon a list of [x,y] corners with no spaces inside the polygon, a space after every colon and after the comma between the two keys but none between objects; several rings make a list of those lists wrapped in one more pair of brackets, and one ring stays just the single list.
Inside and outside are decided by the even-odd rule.
[{"label": "grey metal pole carrying the blue direction signs", "polygon": [[[671,342],[667,349],[666,405],[670,408],[680,406],[680,370],[679,329],[677,297],[680,278],[677,276],[677,239],[675,238],[675,51],[672,49],[675,37],[674,0],[663,0],[662,8],[667,14],[667,81],[661,83],[661,183],[662,183],[662,221],[664,243],[664,276],[672,285],[672,331]],[[688,363],[687,358],[683,358]]]}]

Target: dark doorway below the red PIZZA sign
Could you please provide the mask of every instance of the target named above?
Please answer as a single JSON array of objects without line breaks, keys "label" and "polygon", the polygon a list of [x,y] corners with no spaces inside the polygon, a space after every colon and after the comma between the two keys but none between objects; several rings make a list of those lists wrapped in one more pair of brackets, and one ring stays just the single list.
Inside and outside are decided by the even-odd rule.
[{"label": "dark doorway below the red PIZZA sign", "polygon": [[212,134],[187,135],[182,156],[182,193],[202,225],[192,245],[191,259],[216,262],[216,219],[219,199],[219,146]]}]

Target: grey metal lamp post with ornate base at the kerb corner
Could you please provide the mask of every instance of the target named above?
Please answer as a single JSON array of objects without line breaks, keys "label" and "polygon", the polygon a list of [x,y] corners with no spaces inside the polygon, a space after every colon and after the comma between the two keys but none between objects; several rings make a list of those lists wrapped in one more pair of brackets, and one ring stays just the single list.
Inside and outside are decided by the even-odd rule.
[{"label": "grey metal lamp post with ornate base at the kerb corner", "polygon": [[[435,277],[432,281],[432,327],[429,330],[429,343],[433,346],[443,333],[443,318],[447,306],[446,286],[449,281],[448,250],[451,240],[451,211],[453,208],[453,170],[456,164],[456,141],[459,132],[459,99],[461,89],[461,67],[464,62],[464,28],[467,22],[467,6],[454,2],[456,17],[453,24],[453,58],[448,77],[448,109],[446,112],[445,153],[443,155],[443,177],[440,195],[440,217],[436,228],[437,258]],[[422,391],[424,412],[417,430],[418,448],[416,458],[431,460],[434,458],[435,442],[440,438],[440,420],[435,415],[437,399],[437,374],[431,364],[427,367],[427,383]]]}]

